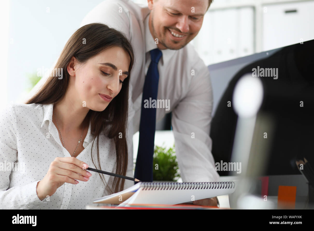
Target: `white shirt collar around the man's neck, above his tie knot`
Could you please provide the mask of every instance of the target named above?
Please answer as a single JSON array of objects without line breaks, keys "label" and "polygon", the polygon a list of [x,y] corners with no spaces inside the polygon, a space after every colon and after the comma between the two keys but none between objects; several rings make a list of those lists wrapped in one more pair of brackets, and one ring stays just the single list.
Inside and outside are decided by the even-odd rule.
[{"label": "white shirt collar around the man's neck, above his tie knot", "polygon": [[[149,13],[150,14],[150,13]],[[157,44],[155,44],[155,38],[153,38],[152,34],[149,30],[149,14],[144,19],[144,28],[145,28],[145,54],[153,49],[158,48]],[[164,63],[168,63],[170,58],[174,55],[177,50],[164,49],[161,50],[162,56],[161,59]]]}]

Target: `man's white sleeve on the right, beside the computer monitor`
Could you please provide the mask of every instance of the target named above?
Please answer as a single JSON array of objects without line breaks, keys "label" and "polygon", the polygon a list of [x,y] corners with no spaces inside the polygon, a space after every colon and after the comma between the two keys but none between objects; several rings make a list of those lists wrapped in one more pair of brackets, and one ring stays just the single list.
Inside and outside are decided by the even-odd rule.
[{"label": "man's white sleeve on the right, beside the computer monitor", "polygon": [[209,72],[201,59],[192,68],[195,75],[187,94],[172,110],[171,117],[180,175],[183,182],[218,181],[209,137],[213,105]]}]

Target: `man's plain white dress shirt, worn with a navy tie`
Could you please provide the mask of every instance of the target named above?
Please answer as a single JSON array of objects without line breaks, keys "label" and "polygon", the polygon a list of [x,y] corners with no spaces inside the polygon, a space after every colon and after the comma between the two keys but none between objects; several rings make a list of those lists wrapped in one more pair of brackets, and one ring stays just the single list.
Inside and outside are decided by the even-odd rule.
[{"label": "man's plain white dress shirt, worn with a navy tie", "polygon": [[[80,25],[103,23],[123,32],[131,41],[135,63],[130,74],[133,105],[129,107],[129,136],[139,130],[149,51],[157,48],[149,31],[149,13],[147,6],[130,0],[105,0],[89,12]],[[208,68],[191,44],[179,50],[161,51],[157,99],[170,100],[170,110],[156,108],[156,122],[172,112],[176,157],[183,182],[218,181],[209,137],[213,93]],[[129,154],[132,153],[131,143]]]}]

